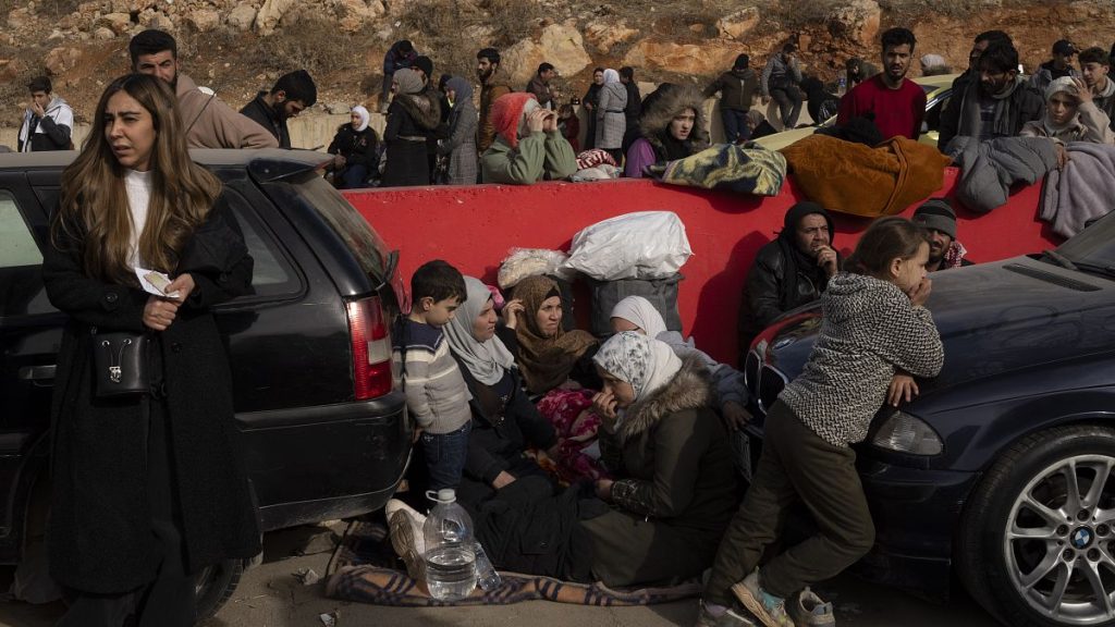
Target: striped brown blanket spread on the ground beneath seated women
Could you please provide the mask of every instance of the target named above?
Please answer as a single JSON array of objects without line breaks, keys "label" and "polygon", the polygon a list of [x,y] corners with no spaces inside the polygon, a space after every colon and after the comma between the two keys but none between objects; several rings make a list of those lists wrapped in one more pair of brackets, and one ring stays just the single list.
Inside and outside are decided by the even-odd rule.
[{"label": "striped brown blanket spread on the ground beneath seated women", "polygon": [[[640,606],[676,601],[700,594],[698,581],[668,588],[615,590],[603,583],[573,583],[550,577],[501,572],[503,585],[492,591],[479,588],[454,602],[430,598],[426,586],[407,576],[405,569],[382,563],[391,553],[382,524],[356,521],[349,525],[329,567],[326,595],[334,599],[397,607],[444,607],[510,605],[529,600],[602,607]],[[386,547],[386,552],[385,552]]]}]

